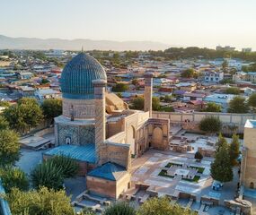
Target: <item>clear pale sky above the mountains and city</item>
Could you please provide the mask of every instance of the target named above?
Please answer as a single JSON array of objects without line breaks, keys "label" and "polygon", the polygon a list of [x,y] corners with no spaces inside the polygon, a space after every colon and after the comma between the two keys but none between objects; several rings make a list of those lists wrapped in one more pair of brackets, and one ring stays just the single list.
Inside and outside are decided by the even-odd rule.
[{"label": "clear pale sky above the mountains and city", "polygon": [[256,0],[0,0],[0,34],[256,49]]}]

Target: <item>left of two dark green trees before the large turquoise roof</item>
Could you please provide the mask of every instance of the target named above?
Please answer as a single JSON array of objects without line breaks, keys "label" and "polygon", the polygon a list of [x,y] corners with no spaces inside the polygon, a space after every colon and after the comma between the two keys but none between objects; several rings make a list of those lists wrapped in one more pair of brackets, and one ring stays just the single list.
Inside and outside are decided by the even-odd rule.
[{"label": "left of two dark green trees before the large turquoise roof", "polygon": [[36,189],[40,189],[41,186],[54,190],[61,189],[64,183],[62,168],[52,162],[43,162],[32,170],[31,181]]}]

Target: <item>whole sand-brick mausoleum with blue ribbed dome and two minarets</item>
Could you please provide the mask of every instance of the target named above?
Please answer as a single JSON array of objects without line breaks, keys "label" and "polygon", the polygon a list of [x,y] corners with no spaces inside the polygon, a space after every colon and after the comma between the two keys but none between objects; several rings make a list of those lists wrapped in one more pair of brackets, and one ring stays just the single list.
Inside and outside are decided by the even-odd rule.
[{"label": "whole sand-brick mausoleum with blue ribbed dome and two minarets", "polygon": [[63,114],[55,118],[56,147],[44,152],[44,159],[59,154],[75,159],[89,193],[118,199],[131,185],[131,158],[150,147],[169,147],[169,119],[152,118],[152,73],[145,78],[145,111],[130,110],[107,92],[107,75],[93,56],[75,56],[61,75]]}]

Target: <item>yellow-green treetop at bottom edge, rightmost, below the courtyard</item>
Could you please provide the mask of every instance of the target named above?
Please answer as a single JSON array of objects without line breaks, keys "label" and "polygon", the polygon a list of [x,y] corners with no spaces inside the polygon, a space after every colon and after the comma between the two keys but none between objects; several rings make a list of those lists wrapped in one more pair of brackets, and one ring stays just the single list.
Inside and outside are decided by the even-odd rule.
[{"label": "yellow-green treetop at bottom edge, rightmost, below the courtyard", "polygon": [[137,210],[137,215],[195,215],[190,209],[183,209],[179,204],[170,203],[167,197],[150,198]]}]

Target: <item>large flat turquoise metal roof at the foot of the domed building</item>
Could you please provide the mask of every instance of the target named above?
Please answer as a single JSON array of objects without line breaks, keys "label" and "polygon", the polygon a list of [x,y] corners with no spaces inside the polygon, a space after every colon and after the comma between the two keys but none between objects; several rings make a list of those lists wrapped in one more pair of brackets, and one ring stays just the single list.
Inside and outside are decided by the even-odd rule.
[{"label": "large flat turquoise metal roof at the foot of the domed building", "polygon": [[95,145],[93,143],[85,144],[83,146],[61,145],[51,150],[47,150],[43,154],[49,156],[63,155],[70,157],[71,159],[95,163]]}]

